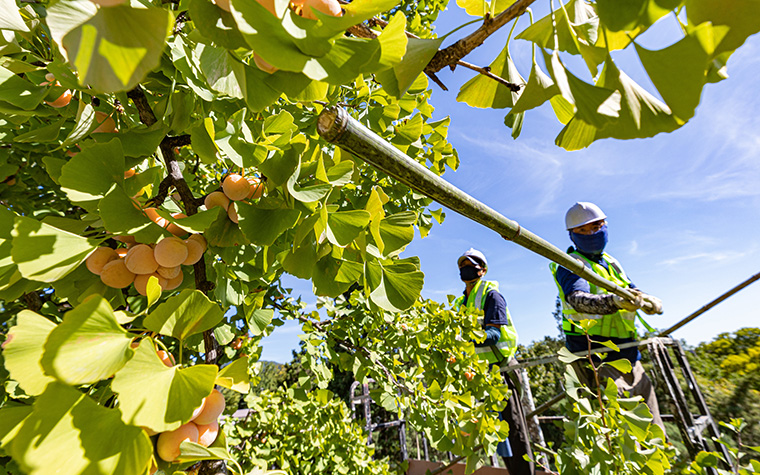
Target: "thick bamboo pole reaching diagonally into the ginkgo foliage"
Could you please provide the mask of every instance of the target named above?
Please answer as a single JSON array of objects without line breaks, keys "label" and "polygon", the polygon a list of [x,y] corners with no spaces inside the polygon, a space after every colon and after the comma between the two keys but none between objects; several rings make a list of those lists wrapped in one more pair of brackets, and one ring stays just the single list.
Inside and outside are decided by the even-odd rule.
[{"label": "thick bamboo pole reaching diagonally into the ginkgo foliage", "polygon": [[620,297],[633,300],[633,292],[610,282],[541,237],[522,228],[472,196],[463,192],[351,117],[340,107],[326,108],[317,122],[319,134],[365,162],[396,178],[410,188],[457,213],[496,231],[501,237],[556,262],[573,274]]}]

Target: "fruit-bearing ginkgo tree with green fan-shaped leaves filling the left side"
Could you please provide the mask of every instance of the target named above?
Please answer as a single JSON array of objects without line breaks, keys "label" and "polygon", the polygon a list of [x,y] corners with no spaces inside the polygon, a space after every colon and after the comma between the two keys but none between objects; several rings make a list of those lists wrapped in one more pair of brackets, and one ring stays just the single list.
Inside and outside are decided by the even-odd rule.
[{"label": "fruit-bearing ginkgo tree with green fan-shaped leaves filling the left side", "polygon": [[[477,74],[458,100],[509,109],[515,137],[547,101],[564,148],[649,137],[685,124],[760,29],[753,0],[550,2],[515,35],[533,44],[530,71],[508,44],[488,66],[464,60],[533,1],[461,0],[451,8],[480,26],[455,38],[433,33],[443,0],[355,0],[327,13],[288,0],[0,0],[7,470],[366,468],[371,450],[308,468],[277,453],[315,427],[361,440],[330,402],[328,361],[374,379],[376,401],[474,469],[507,433],[497,411],[509,391],[475,356],[475,317],[421,301],[419,260],[400,257],[443,213],[322,140],[319,113],[345,107],[443,174],[459,158],[450,119],[433,118],[429,81],[443,86],[436,73],[459,65]],[[666,15],[683,38],[639,45]],[[626,48],[656,91],[615,64]],[[588,74],[565,66],[573,55]],[[226,193],[233,176],[248,194]],[[170,244],[201,255],[154,266],[155,247]],[[304,311],[285,274],[311,281],[327,320]],[[302,324],[310,376],[279,395],[248,394],[261,338],[286,319]],[[212,443],[156,455],[158,434],[191,424],[215,387],[247,395],[255,424],[230,421]],[[321,440],[335,450],[336,439]]]}]

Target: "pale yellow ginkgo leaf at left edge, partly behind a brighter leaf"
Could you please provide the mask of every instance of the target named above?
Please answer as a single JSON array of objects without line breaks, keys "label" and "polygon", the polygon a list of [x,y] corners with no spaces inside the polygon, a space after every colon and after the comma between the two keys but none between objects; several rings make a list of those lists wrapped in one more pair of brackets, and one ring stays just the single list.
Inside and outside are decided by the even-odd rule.
[{"label": "pale yellow ginkgo leaf at left edge, partly behind a brighter leaf", "polygon": [[16,325],[8,331],[3,349],[5,369],[31,396],[42,394],[45,386],[54,381],[42,370],[40,360],[45,340],[55,327],[55,323],[42,315],[22,310],[16,316]]}]

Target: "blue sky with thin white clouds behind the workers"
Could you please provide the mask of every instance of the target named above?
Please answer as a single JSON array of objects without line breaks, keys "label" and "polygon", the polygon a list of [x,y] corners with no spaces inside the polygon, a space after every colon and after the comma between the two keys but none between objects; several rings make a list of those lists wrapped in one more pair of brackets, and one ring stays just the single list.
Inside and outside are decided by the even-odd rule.
[{"label": "blue sky with thin white clouds behind the workers", "polygon": [[[534,9],[539,17],[545,14],[541,8]],[[466,21],[468,17],[452,1],[436,31],[444,34]],[[523,27],[518,25],[517,31]],[[489,64],[503,48],[507,33],[499,32],[467,61]],[[641,44],[661,48],[677,35],[675,21],[666,19],[646,33]],[[529,44],[513,40],[511,50],[527,77]],[[657,95],[635,55],[623,52],[613,57]],[[568,63],[583,77],[585,68]],[[431,103],[437,117],[451,116],[449,141],[461,160],[459,169],[444,178],[562,249],[570,244],[565,211],[576,201],[599,205],[608,216],[607,252],[622,263],[639,288],[662,299],[665,313],[647,320],[664,329],[760,272],[758,35],[733,55],[728,73],[728,80],[705,88],[696,116],[675,132],[635,141],[607,139],[566,152],[554,145],[562,125],[548,105],[529,111],[522,135],[513,140],[503,125],[506,111],[456,102],[471,71],[442,71],[439,76],[449,92],[432,85]],[[551,313],[557,290],[548,261],[449,210],[442,226],[434,227],[425,239],[415,239],[403,254],[421,259],[423,297],[445,301],[446,295],[461,293],[456,259],[469,247],[486,254],[487,278],[500,283],[520,342],[556,336]],[[306,301],[314,301],[309,282],[293,278],[288,283]],[[760,283],[674,336],[695,345],[721,332],[760,326],[758,301]],[[300,333],[295,323],[278,328],[264,340],[262,359],[289,361]]]}]

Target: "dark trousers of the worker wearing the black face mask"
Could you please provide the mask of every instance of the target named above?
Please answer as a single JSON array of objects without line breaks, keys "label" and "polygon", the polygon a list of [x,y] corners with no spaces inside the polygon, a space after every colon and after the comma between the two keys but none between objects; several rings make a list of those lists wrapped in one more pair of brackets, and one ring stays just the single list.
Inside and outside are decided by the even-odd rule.
[{"label": "dark trousers of the worker wearing the black face mask", "polygon": [[[515,362],[513,359],[512,362]],[[504,381],[512,391],[512,395],[507,402],[507,407],[501,413],[502,420],[509,423],[509,445],[512,448],[511,457],[503,457],[504,464],[507,466],[510,475],[534,475],[536,465],[532,461],[527,461],[523,455],[533,459],[533,451],[530,448],[530,436],[528,434],[528,424],[525,422],[525,413],[520,404],[520,390],[513,379],[517,374],[513,372],[502,373]]]}]

